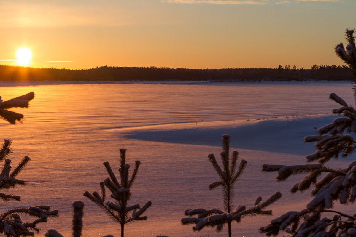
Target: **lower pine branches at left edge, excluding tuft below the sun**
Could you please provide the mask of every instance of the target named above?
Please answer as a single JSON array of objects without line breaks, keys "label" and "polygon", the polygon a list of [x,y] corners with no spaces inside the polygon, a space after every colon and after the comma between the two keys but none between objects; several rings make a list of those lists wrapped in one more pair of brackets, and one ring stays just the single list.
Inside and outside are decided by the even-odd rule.
[{"label": "lower pine branches at left edge, excluding tuft below the sun", "polygon": [[[11,153],[11,141],[4,140],[0,149],[0,161],[3,161]],[[11,172],[11,160],[5,159],[4,166],[0,173],[0,190],[10,189],[16,185],[24,185],[25,181],[16,179],[16,176],[30,161],[28,156],[25,156],[17,167]],[[0,198],[3,201],[20,201],[21,197],[13,194],[0,193]],[[58,216],[58,210],[49,210],[46,205],[31,206],[30,208],[13,208],[0,216],[0,233],[4,233],[7,237],[15,236],[33,236],[32,231],[40,231],[36,227],[40,222],[47,222],[48,217]],[[20,214],[26,214],[35,217],[31,222],[23,222]]]}]

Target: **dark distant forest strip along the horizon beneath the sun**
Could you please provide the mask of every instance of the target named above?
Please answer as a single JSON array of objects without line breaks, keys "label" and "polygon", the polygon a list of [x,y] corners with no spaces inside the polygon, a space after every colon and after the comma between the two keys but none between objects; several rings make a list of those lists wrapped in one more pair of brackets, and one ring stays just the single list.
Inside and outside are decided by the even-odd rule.
[{"label": "dark distant forest strip along the horizon beneath the sun", "polygon": [[157,67],[112,67],[101,66],[92,69],[29,68],[0,65],[0,81],[305,81],[353,80],[348,66],[313,65],[310,69],[297,69],[289,65],[278,68],[226,68],[187,69]]}]

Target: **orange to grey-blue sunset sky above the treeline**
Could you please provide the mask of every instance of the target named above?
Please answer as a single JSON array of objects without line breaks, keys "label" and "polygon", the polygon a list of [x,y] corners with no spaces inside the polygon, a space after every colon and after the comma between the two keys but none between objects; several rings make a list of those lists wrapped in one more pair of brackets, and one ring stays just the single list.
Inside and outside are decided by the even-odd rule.
[{"label": "orange to grey-blue sunset sky above the treeline", "polygon": [[343,65],[355,0],[0,0],[0,64],[277,68]]}]

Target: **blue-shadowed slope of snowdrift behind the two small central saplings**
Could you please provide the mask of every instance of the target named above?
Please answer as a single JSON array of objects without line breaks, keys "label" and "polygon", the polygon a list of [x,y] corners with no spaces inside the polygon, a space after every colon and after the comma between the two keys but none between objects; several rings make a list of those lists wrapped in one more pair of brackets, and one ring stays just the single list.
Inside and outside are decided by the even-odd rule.
[{"label": "blue-shadowed slope of snowdrift behind the two small central saplings", "polygon": [[234,148],[308,155],[315,151],[314,143],[305,143],[306,135],[316,135],[317,128],[331,123],[334,115],[306,118],[263,120],[251,125],[219,128],[183,128],[166,130],[138,130],[126,134],[129,139],[221,146],[221,136],[231,136]]}]

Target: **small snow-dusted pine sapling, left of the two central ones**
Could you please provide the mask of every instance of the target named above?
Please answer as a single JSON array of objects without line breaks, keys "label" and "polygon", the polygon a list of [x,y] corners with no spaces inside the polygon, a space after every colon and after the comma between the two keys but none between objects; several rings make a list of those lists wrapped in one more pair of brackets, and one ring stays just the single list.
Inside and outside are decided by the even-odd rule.
[{"label": "small snow-dusted pine sapling, left of the two central ones", "polygon": [[[147,220],[147,216],[141,215],[152,205],[151,201],[148,201],[142,207],[140,204],[129,205],[131,197],[130,188],[133,181],[136,179],[140,164],[140,161],[135,161],[135,168],[133,168],[131,178],[129,178],[130,165],[126,164],[126,149],[120,149],[120,182],[117,181],[109,162],[104,162],[104,166],[106,171],[108,171],[110,178],[106,178],[104,181],[100,182],[101,195],[96,191],[93,192],[93,194],[90,194],[88,191],[84,193],[84,196],[100,205],[107,211],[108,215],[120,223],[121,237],[124,237],[124,226],[126,223]],[[115,200],[114,202],[105,201],[105,186],[110,190],[111,198]],[[130,211],[132,211],[131,215],[129,215]]]}]

